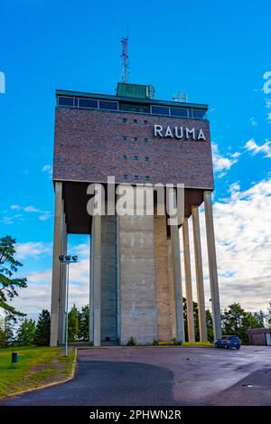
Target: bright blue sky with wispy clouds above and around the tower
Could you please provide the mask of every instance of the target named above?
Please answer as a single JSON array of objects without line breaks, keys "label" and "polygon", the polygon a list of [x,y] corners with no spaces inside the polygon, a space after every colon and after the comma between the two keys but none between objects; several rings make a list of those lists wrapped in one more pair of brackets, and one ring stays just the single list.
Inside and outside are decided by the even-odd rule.
[{"label": "bright blue sky with wispy clouds above and around the tower", "polygon": [[[187,93],[189,101],[210,106],[215,212],[217,221],[224,219],[222,227],[225,222],[224,232],[220,230],[217,235],[222,304],[237,299],[250,309],[265,307],[271,281],[266,265],[271,243],[270,212],[266,215],[258,202],[267,208],[271,194],[271,147],[266,141],[271,138],[271,94],[263,90],[263,75],[271,69],[270,2],[196,0],[166,5],[160,0],[1,0],[0,5],[0,71],[5,72],[6,79],[6,92],[0,94],[0,235],[17,239],[23,272],[36,276],[37,285],[30,283],[25,289],[31,295],[27,300],[24,295],[23,307],[27,309],[32,302],[44,272],[47,279],[40,278],[41,285],[49,290],[54,90],[114,93],[121,79],[120,39],[126,34],[126,23],[130,81],[154,85],[156,99],[172,99],[180,90]],[[256,199],[256,195],[261,197]],[[242,201],[246,209],[255,208],[253,217],[239,214]],[[231,215],[233,221],[229,221]],[[240,269],[232,271],[230,259],[224,263],[227,252],[223,250],[223,246],[229,246],[225,234],[238,220],[245,223],[238,225],[232,237],[240,238],[243,244],[231,251],[236,250],[242,267],[255,259],[252,247],[261,251],[257,260],[260,269],[257,271],[255,264],[251,267],[251,296],[244,299],[239,296],[245,284],[242,281],[250,277]],[[261,222],[263,229],[257,227]],[[249,232],[252,224],[257,228],[255,234]],[[261,231],[266,233],[257,241]],[[73,237],[70,241],[86,258],[86,238]],[[248,251],[247,257],[244,251]],[[83,277],[74,277],[75,287],[86,285],[86,270],[82,272]],[[229,277],[232,272],[233,278]],[[233,281],[235,295],[230,297],[227,287],[232,288]],[[261,300],[255,303],[251,285],[256,281]],[[76,296],[81,295],[74,295],[79,300]],[[79,302],[84,301],[85,297],[80,297]],[[33,311],[34,306],[31,314]]]}]

